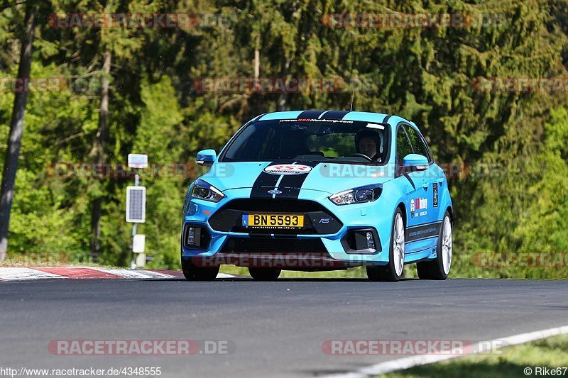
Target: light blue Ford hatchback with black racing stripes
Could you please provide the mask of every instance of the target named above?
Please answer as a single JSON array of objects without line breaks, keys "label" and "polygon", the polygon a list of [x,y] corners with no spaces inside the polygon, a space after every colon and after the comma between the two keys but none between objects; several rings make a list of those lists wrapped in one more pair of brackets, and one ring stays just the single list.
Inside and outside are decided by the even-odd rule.
[{"label": "light blue Ford hatchback with black racing stripes", "polygon": [[242,126],[193,182],[182,218],[182,270],[212,280],[223,264],[271,281],[281,270],[365,266],[398,281],[452,265],[452,199],[415,123],[361,111],[266,113]]}]

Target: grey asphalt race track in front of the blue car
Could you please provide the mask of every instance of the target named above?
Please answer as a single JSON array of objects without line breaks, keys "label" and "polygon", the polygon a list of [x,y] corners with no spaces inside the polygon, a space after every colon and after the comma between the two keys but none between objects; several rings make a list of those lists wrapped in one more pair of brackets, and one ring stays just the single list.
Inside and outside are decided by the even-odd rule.
[{"label": "grey asphalt race track in front of the blue car", "polygon": [[[492,340],[568,325],[568,281],[44,279],[0,283],[0,367],[161,367],[161,377],[314,377],[400,355],[325,340]],[[53,355],[51,340],[227,340],[226,355]],[[522,372],[519,372],[520,376]]]}]

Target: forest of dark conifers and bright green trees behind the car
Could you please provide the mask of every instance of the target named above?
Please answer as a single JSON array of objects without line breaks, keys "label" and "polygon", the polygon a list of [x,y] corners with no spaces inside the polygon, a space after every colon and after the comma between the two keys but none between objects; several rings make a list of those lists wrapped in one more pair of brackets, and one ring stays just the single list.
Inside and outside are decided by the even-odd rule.
[{"label": "forest of dark conifers and bright green trees behind the car", "polygon": [[[214,17],[173,29],[55,28],[48,22],[53,13],[114,12]],[[325,21],[331,13],[396,12],[461,13],[474,20],[493,15],[495,22],[334,28]],[[30,77],[62,77],[73,85],[27,96],[9,258],[53,252],[77,262],[129,262],[124,209],[133,180],[61,177],[55,163],[125,163],[136,152],[151,162],[193,167],[195,152],[219,151],[258,113],[349,109],[354,88],[354,109],[415,121],[437,162],[462,167],[449,179],[454,272],[568,277],[566,269],[494,272],[471,264],[480,251],[568,251],[566,0],[0,0],[0,77],[18,77],[31,19]],[[193,85],[200,78],[255,76],[346,84],[337,92],[288,94],[204,93]],[[494,78],[564,81],[550,90],[515,90],[496,88]],[[491,88],[480,86],[483,80]],[[16,96],[4,84],[0,167]],[[138,233],[146,234],[151,267],[179,267],[182,201],[197,168],[188,172],[143,177],[148,220]]]}]

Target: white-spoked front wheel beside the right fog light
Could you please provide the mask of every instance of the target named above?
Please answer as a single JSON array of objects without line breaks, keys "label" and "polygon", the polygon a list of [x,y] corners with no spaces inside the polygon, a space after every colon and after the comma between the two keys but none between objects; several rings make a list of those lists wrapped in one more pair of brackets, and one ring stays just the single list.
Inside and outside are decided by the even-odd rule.
[{"label": "white-spoked front wheel beside the right fog light", "polygon": [[367,277],[371,281],[397,282],[403,275],[404,243],[406,228],[403,212],[396,209],[391,229],[391,247],[388,251],[388,264],[367,267]]}]

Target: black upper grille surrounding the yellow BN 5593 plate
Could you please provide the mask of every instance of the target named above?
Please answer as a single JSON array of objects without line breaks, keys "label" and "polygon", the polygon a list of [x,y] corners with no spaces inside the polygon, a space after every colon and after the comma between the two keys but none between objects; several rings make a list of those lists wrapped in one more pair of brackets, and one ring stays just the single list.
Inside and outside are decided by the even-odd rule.
[{"label": "black upper grille surrounding the yellow BN 5593 plate", "polygon": [[[304,228],[254,228],[242,225],[244,213],[304,214]],[[324,235],[337,233],[343,224],[321,204],[302,199],[234,199],[209,218],[217,231],[251,234]]]}]

